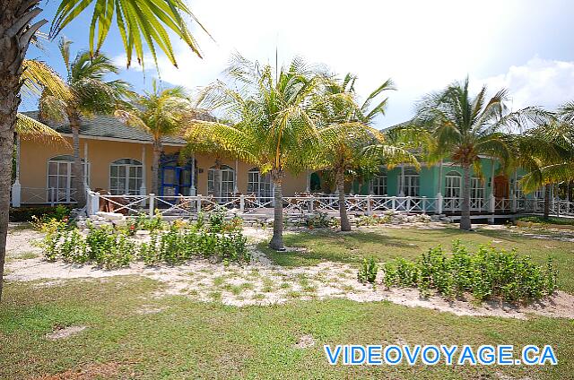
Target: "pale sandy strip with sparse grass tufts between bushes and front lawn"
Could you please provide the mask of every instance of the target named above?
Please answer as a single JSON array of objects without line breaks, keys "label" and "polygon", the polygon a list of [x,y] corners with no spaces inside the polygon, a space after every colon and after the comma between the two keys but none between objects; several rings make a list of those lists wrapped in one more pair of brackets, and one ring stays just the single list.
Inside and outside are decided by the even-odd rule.
[{"label": "pale sandy strip with sparse grass tufts between bushes and front lawn", "polygon": [[[20,236],[25,232],[24,238]],[[30,232],[17,231],[9,235],[10,246],[18,242],[30,249]],[[245,229],[250,239],[261,241],[269,238],[271,231]],[[36,235],[37,237],[39,234]],[[15,238],[15,240],[14,240]],[[16,241],[16,243],[14,243]],[[91,265],[69,263],[48,263],[40,258],[15,260],[7,263],[9,272],[6,281],[40,281],[36,288],[54,287],[69,279],[106,278],[121,275],[139,275],[165,286],[153,297],[185,296],[203,302],[222,302],[226,305],[244,307],[248,305],[282,304],[297,299],[346,298],[357,302],[387,300],[406,307],[425,307],[455,315],[502,316],[525,319],[529,314],[574,319],[574,296],[557,292],[527,307],[517,307],[497,302],[474,306],[465,300],[447,300],[439,296],[422,298],[417,289],[384,289],[378,285],[362,285],[357,281],[357,269],[346,263],[324,262],[314,266],[285,268],[274,265],[255,246],[249,246],[252,262],[245,266],[212,263],[196,259],[188,263],[170,266],[146,267],[133,263],[117,270],[104,270]],[[143,307],[143,314],[161,312],[152,307]]]}]

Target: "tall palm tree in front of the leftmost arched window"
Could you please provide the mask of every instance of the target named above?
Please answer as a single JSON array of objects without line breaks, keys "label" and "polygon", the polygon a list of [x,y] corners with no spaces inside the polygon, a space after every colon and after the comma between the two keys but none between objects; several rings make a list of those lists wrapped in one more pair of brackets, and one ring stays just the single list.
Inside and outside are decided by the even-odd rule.
[{"label": "tall palm tree in front of the leftmost arched window", "polygon": [[[42,120],[61,122],[66,120],[72,130],[72,148],[74,163],[72,175],[75,199],[79,207],[85,204],[85,180],[82,159],[80,157],[80,125],[82,117],[91,117],[95,114],[109,114],[126,97],[132,96],[129,85],[124,81],[106,82],[104,77],[110,73],[117,73],[116,65],[102,54],[90,56],[88,52],[78,53],[74,61],[70,61],[70,45],[68,39],[61,39],[58,46],[64,61],[66,78],[65,91],[53,89],[50,84],[57,82],[57,73],[50,70],[45,64],[30,61],[24,63],[27,70],[37,71],[39,85],[43,91],[39,98],[39,116]],[[47,76],[49,76],[47,78]]]}]

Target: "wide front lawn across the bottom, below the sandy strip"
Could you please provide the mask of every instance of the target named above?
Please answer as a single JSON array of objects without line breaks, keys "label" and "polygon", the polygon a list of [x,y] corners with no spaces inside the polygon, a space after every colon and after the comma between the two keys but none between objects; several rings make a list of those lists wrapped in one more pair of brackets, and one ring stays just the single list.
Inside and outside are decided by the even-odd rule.
[{"label": "wide front lawn across the bottom, below the sandy strip", "polygon": [[[138,276],[66,281],[49,289],[7,283],[0,308],[0,378],[66,371],[157,378],[571,378],[574,323],[535,317],[460,317],[387,302],[299,301],[227,307],[172,296]],[[146,308],[159,313],[140,314]],[[59,341],[56,325],[88,328]],[[294,347],[309,334],[316,345]],[[327,365],[323,344],[552,344],[556,367],[355,367]],[[107,371],[107,372],[106,372]],[[103,373],[107,375],[102,375]]]}]

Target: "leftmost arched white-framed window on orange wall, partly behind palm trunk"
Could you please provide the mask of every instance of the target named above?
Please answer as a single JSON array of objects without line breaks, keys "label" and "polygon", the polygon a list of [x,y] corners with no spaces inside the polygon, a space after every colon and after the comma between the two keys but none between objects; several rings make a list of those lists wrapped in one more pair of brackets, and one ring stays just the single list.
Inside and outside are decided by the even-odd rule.
[{"label": "leftmost arched white-framed window on orange wall, partly behind palm trunk", "polygon": [[[74,156],[65,154],[48,160],[48,202],[75,201],[72,175]],[[90,164],[82,159],[83,175],[90,185]]]}]

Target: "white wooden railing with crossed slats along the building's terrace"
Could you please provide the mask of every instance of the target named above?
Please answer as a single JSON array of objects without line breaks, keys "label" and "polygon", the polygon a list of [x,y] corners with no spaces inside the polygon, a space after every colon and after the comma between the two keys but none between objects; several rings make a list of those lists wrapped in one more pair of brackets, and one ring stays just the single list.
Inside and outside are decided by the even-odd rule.
[{"label": "white wooden railing with crossed slats along the building's terrace", "polygon": [[[268,213],[274,206],[273,197],[257,197],[255,194],[234,194],[217,200],[212,195],[111,195],[87,191],[88,212],[99,210],[123,212],[128,215],[145,213],[152,216],[160,213],[164,216],[194,217],[198,212],[213,212],[226,209],[245,215]],[[57,190],[55,188],[22,187],[22,204],[74,203],[75,190]],[[388,195],[345,195],[347,212],[367,214],[386,211],[415,213],[457,213],[461,211],[462,199],[455,197],[425,196],[388,196]],[[554,215],[574,216],[574,202],[552,200],[550,212]],[[544,211],[544,199],[533,198],[471,198],[471,212],[488,214],[541,213]],[[291,215],[307,215],[314,212],[338,212],[337,194],[303,194],[283,197],[283,212]]]}]

